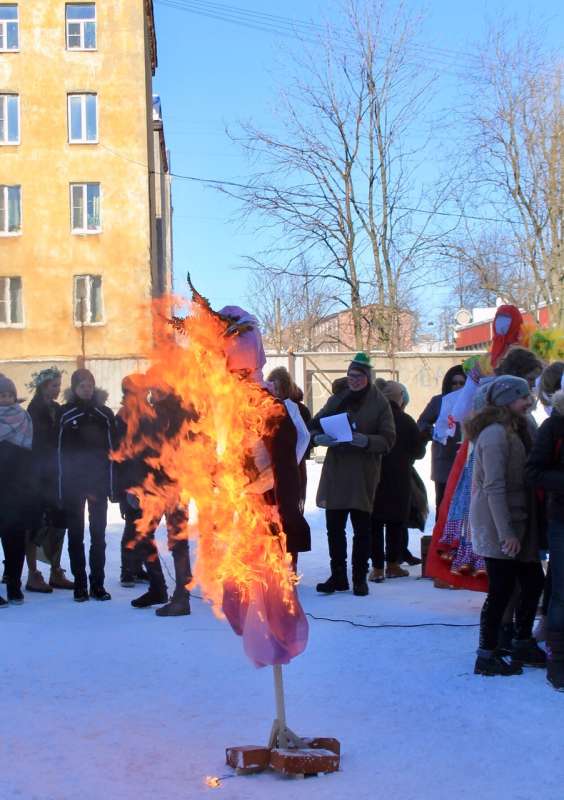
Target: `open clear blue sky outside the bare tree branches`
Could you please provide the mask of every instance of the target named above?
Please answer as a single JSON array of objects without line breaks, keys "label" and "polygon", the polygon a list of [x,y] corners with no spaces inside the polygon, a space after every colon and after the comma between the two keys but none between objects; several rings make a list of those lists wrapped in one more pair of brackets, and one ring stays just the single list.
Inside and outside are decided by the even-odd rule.
[{"label": "open clear blue sky outside the bare tree branches", "polygon": [[[219,0],[218,0],[219,1]],[[226,126],[241,119],[268,126],[272,120],[277,81],[284,78],[285,49],[292,41],[271,32],[234,25],[179,7],[202,8],[200,0],[154,0],[159,48],[155,91],[160,94],[172,171],[202,178],[245,181],[248,167],[227,137]],[[316,20],[318,9],[331,3],[315,0],[237,0],[225,5],[297,20]],[[171,5],[167,5],[171,3]],[[423,8],[408,2],[413,9]],[[430,0],[423,9],[422,43],[456,51],[449,62],[456,69],[472,53],[488,16],[517,13],[525,23],[531,6],[521,0],[453,2]],[[562,42],[563,14],[559,0],[537,0],[534,16],[549,21],[551,44]],[[526,23],[525,23],[526,24]],[[438,106],[452,103],[456,78],[439,84]],[[200,291],[215,307],[246,302],[247,275],[243,256],[256,250],[257,237],[242,228],[235,201],[185,180],[174,180],[174,264],[176,289],[184,288],[190,270]],[[429,299],[430,305],[432,301]]]}]

